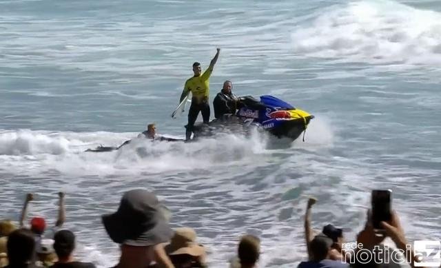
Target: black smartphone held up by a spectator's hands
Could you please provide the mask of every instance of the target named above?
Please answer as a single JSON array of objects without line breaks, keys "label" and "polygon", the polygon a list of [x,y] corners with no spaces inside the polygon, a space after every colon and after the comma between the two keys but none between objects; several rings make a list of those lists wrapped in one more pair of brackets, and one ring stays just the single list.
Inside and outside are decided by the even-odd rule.
[{"label": "black smartphone held up by a spectator's hands", "polygon": [[374,230],[383,230],[382,221],[390,221],[392,218],[392,191],[372,190],[372,226]]}]

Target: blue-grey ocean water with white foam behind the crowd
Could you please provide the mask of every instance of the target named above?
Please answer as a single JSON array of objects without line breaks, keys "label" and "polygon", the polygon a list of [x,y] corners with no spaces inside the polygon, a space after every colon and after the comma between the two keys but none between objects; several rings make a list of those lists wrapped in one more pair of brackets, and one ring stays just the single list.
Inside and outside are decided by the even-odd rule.
[{"label": "blue-grey ocean water with white foam behind the crowd", "polygon": [[[210,267],[240,235],[262,239],[260,267],[305,260],[302,216],[354,240],[371,189],[392,189],[409,240],[440,240],[441,6],[438,1],[0,1],[1,218],[53,224],[66,192],[76,256],[109,267],[119,248],[101,214],[123,192],[151,189],[174,227],[194,227]],[[273,94],[314,114],[305,142],[225,134],[201,143],[170,118],[193,61],[221,48],[212,97]],[[201,120],[201,118],[200,118]]]}]

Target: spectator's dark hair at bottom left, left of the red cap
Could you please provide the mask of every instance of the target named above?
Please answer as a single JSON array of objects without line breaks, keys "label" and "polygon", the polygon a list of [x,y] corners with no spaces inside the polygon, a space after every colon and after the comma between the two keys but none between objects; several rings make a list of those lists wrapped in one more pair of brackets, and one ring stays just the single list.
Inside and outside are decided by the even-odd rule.
[{"label": "spectator's dark hair at bottom left, left of the red cap", "polygon": [[34,256],[34,234],[25,228],[12,231],[8,236],[7,247],[10,265],[23,265],[32,260]]}]

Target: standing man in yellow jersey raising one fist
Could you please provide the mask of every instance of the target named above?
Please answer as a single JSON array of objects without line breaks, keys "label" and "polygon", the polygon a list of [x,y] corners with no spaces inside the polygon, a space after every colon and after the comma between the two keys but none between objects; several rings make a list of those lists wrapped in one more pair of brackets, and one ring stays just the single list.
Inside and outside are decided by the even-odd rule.
[{"label": "standing man in yellow jersey raising one fist", "polygon": [[201,63],[193,63],[194,76],[185,81],[184,90],[179,102],[183,101],[189,92],[192,92],[192,105],[190,105],[188,111],[187,130],[185,131],[186,141],[189,141],[192,136],[193,126],[196,122],[196,118],[198,118],[199,112],[202,113],[203,122],[206,124],[209,122],[209,76],[212,75],[214,65],[216,61],[218,61],[220,48],[216,50],[216,55],[214,55],[214,58],[209,63],[208,69],[202,74]]}]

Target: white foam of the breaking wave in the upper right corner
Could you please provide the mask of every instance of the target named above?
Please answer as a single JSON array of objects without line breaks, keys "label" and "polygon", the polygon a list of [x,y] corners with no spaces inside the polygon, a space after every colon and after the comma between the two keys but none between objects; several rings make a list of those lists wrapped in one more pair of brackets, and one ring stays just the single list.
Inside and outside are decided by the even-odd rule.
[{"label": "white foam of the breaking wave in the upper right corner", "polygon": [[294,51],[368,63],[441,65],[441,14],[395,1],[328,8],[291,34]]}]

